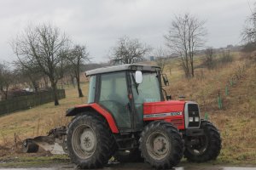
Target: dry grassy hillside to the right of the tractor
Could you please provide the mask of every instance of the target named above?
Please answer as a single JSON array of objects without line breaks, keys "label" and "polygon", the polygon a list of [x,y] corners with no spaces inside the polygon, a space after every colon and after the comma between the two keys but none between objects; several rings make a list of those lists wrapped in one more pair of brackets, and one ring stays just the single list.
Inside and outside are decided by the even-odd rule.
[{"label": "dry grassy hillside to the right of the tractor", "polygon": [[[207,114],[209,121],[218,127],[223,139],[218,161],[256,163],[255,66],[255,63],[238,57],[236,61],[213,71],[198,69],[194,79],[180,78],[167,88],[174,99],[182,94],[187,100],[197,101],[201,106],[201,116]],[[221,110],[218,109],[218,92],[223,99]]]}]

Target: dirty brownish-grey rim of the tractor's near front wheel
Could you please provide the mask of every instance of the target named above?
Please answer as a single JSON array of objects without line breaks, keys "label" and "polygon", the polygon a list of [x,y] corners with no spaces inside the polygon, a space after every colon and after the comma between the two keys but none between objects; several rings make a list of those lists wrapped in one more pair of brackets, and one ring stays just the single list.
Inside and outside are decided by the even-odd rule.
[{"label": "dirty brownish-grey rim of the tractor's near front wheel", "polygon": [[160,160],[168,155],[171,144],[164,133],[155,132],[148,136],[146,147],[149,156]]}]

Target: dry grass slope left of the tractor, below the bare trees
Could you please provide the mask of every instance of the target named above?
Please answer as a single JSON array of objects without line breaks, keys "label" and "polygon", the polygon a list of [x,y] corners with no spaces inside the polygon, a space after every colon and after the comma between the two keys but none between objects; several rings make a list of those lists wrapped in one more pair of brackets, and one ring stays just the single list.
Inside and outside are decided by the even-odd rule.
[{"label": "dry grass slope left of the tractor, below the bare trees", "polygon": [[49,129],[67,125],[70,121],[65,115],[68,108],[85,104],[87,101],[88,83],[82,83],[84,98],[78,98],[77,88],[66,88],[66,99],[60,100],[60,105],[53,103],[40,105],[26,111],[18,111],[0,117],[0,144],[10,144],[17,135],[20,139],[45,135]]}]

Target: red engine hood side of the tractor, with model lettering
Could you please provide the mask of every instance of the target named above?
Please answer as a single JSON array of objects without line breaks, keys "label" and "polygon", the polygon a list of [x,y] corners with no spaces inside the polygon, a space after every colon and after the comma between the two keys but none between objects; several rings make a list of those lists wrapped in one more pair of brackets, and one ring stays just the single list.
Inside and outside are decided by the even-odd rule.
[{"label": "red engine hood side of the tractor, with model lettering", "polygon": [[165,120],[184,129],[185,101],[160,101],[143,104],[143,121]]}]

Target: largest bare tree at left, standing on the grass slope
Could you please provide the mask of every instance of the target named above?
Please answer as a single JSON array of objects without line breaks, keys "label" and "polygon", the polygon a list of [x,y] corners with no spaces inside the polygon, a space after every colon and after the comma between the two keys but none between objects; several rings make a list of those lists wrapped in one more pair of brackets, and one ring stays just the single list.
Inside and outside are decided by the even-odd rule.
[{"label": "largest bare tree at left, standing on the grass slope", "polygon": [[58,28],[45,24],[29,26],[12,42],[15,54],[24,65],[37,66],[49,77],[55,105],[59,105],[56,84],[63,77],[68,42]]}]

